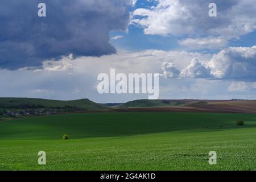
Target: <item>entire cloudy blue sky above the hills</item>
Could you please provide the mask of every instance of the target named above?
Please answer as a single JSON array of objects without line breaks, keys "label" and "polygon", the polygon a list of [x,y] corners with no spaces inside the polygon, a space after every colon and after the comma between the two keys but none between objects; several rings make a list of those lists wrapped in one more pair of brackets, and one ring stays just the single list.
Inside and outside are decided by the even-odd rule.
[{"label": "entire cloudy blue sky above the hills", "polygon": [[148,97],[98,93],[114,68],[159,73],[159,99],[256,100],[255,0],[2,0],[0,22],[0,97]]}]

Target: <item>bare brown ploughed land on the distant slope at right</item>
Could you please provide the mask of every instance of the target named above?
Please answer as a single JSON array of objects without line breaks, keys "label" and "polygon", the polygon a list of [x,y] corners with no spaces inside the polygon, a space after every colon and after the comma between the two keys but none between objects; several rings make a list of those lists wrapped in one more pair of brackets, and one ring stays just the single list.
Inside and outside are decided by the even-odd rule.
[{"label": "bare brown ploughed land on the distant slope at right", "polygon": [[133,107],[111,109],[117,112],[213,112],[256,114],[256,101],[206,101],[208,104],[170,107]]}]

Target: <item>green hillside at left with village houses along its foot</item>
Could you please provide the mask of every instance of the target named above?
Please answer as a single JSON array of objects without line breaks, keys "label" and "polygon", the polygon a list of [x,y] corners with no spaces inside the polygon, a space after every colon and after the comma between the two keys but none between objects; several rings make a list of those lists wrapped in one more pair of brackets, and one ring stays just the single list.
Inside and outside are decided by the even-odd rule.
[{"label": "green hillside at left with village houses along its foot", "polygon": [[0,119],[97,111],[106,108],[108,106],[97,104],[88,99],[57,101],[39,98],[0,98]]}]

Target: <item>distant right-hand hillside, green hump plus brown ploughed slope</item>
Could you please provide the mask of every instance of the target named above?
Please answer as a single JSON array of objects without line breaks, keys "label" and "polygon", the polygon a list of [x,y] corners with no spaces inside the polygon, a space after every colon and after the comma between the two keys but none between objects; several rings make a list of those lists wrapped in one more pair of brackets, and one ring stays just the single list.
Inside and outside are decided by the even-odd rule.
[{"label": "distant right-hand hillside, green hump plus brown ploughed slope", "polygon": [[113,109],[131,112],[256,113],[254,100],[135,100]]}]

